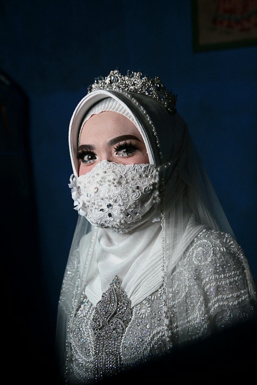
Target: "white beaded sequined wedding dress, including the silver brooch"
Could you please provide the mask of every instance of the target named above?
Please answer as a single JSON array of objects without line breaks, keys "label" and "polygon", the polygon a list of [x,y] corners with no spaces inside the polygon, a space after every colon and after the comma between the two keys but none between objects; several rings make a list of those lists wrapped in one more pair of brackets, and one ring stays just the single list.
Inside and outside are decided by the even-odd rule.
[{"label": "white beaded sequined wedding dress, including the silver brooch", "polygon": [[[168,334],[162,288],[132,309],[117,277],[96,306],[82,292],[70,325],[70,383],[90,383],[165,354],[168,346],[172,349],[181,342],[183,325],[186,340],[191,341],[244,321],[254,311],[256,287],[247,259],[228,234],[213,230],[198,234],[171,280]],[[179,285],[184,287],[180,297]],[[181,319],[182,303],[186,322]]]}]

